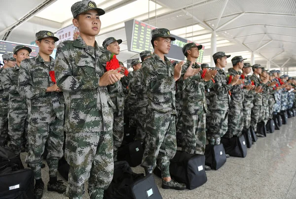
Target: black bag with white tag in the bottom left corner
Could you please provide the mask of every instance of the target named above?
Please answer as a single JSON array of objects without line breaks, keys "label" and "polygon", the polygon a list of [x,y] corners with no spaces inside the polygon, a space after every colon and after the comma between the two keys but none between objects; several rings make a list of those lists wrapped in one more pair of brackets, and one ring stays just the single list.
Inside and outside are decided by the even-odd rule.
[{"label": "black bag with white tag in the bottom left corner", "polygon": [[0,199],[34,199],[33,170],[18,170],[17,168],[14,170],[10,166],[2,170],[0,174]]}]

